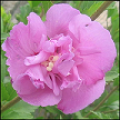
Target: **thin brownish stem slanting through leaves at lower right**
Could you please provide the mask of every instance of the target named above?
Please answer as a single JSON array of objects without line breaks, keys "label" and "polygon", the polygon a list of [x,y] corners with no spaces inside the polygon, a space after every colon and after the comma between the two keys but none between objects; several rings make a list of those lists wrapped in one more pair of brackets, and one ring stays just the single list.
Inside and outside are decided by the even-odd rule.
[{"label": "thin brownish stem slanting through leaves at lower right", "polygon": [[[98,106],[96,106],[92,111],[96,111],[98,110],[102,104],[112,95],[112,93],[117,90],[119,88],[119,86],[116,86],[113,88],[113,90],[110,91],[110,93],[98,104]],[[89,115],[91,115],[92,112],[90,111],[85,117],[88,117]]]}]

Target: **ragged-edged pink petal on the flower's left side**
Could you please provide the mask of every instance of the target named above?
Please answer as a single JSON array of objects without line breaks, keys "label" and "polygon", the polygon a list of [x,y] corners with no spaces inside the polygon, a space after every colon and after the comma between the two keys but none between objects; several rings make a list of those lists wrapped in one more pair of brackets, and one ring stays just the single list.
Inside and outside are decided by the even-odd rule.
[{"label": "ragged-edged pink petal on the flower's left side", "polygon": [[10,31],[10,37],[2,45],[8,57],[7,64],[10,66],[8,71],[13,80],[26,71],[24,59],[40,50],[38,45],[40,45],[41,39],[46,40],[43,35],[46,34],[45,26],[40,17],[35,13],[30,13],[28,20],[28,25],[24,25],[22,22],[15,25]]}]

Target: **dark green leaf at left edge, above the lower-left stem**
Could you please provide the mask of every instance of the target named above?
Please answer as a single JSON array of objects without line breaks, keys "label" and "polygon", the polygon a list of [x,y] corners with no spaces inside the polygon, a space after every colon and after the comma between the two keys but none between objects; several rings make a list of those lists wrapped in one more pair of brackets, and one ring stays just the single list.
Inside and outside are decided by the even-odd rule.
[{"label": "dark green leaf at left edge, above the lower-left stem", "polygon": [[8,100],[8,99],[9,99],[8,91],[6,90],[6,87],[1,81],[1,101]]}]

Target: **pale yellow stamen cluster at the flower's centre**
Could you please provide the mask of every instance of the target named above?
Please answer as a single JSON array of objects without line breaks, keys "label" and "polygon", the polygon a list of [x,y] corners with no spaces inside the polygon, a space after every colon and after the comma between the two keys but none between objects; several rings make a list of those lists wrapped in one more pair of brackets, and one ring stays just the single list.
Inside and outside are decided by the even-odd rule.
[{"label": "pale yellow stamen cluster at the flower's centre", "polygon": [[46,67],[47,71],[52,71],[55,62],[59,59],[58,55],[51,55],[48,60],[42,62],[41,64]]}]

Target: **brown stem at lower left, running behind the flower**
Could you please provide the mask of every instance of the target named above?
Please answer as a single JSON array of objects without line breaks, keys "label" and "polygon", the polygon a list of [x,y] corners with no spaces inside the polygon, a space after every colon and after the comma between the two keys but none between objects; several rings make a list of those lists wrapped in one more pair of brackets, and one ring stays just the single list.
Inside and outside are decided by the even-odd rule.
[{"label": "brown stem at lower left, running behind the flower", "polygon": [[13,100],[11,100],[9,103],[1,107],[1,113],[4,112],[5,110],[9,109],[11,106],[19,102],[21,98],[19,96],[15,97]]}]

